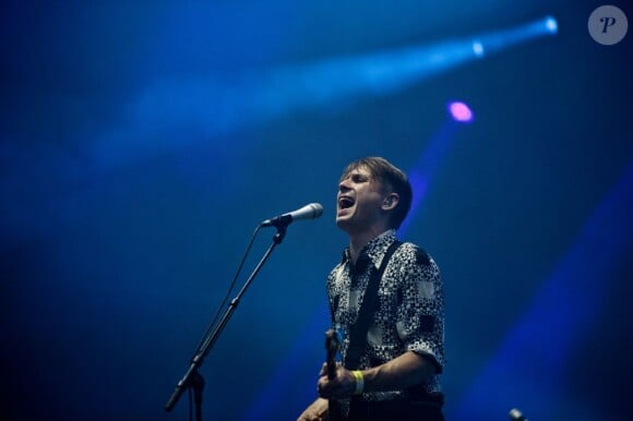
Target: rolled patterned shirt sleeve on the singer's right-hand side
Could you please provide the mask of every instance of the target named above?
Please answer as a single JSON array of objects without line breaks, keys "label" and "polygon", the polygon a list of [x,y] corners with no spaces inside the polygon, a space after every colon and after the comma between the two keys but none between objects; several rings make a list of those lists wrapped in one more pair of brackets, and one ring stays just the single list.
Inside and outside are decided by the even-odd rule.
[{"label": "rolled patterned shirt sleeve on the singer's right-hand side", "polygon": [[[409,244],[407,244],[409,245]],[[440,269],[423,250],[410,244],[398,253],[402,284],[396,329],[409,351],[444,365],[444,296]]]}]

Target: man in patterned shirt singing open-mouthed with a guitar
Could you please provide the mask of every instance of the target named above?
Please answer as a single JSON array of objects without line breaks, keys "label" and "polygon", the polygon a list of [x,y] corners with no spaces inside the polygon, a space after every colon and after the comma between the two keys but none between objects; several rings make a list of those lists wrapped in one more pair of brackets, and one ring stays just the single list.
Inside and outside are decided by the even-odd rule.
[{"label": "man in patterned shirt singing open-mouthed with a guitar", "polygon": [[[299,421],[444,419],[440,270],[422,249],[396,238],[411,196],[406,175],[384,158],[359,159],[344,170],[336,225],[349,244],[327,277],[342,363],[333,378],[323,365],[319,398]],[[330,414],[330,401],[344,413]]]}]

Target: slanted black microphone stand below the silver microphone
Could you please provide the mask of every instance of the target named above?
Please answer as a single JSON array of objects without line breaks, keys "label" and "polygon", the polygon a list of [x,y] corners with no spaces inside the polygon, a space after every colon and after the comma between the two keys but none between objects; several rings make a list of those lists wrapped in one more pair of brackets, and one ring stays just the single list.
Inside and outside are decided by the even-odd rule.
[{"label": "slanted black microphone stand below the silver microphone", "polygon": [[[289,222],[290,221],[288,221],[288,224]],[[282,241],[284,240],[284,237],[286,237],[287,224],[276,225],[276,228],[277,228],[277,233],[273,237],[273,243],[268,246],[268,250],[266,250],[263,257],[260,260],[260,262],[258,263],[258,265],[255,266],[255,268],[253,269],[253,272],[251,273],[249,278],[246,280],[244,285],[242,286],[242,288],[240,289],[240,291],[238,292],[236,298],[234,298],[232,301],[229,303],[226,312],[224,313],[224,315],[222,316],[219,322],[216,324],[213,332],[211,332],[211,334],[206,338],[204,338],[203,341],[201,341],[202,345],[200,346],[198,352],[195,353],[195,356],[191,360],[191,364],[189,365],[189,370],[187,370],[187,372],[184,373],[184,376],[182,376],[180,382],[178,382],[178,384],[176,385],[176,389],[174,390],[174,393],[171,394],[171,397],[169,398],[169,400],[165,405],[166,411],[168,411],[168,412],[171,411],[174,409],[174,407],[176,406],[176,404],[178,402],[178,399],[180,399],[180,397],[184,393],[184,390],[189,387],[192,387],[194,390],[194,400],[195,400],[195,412],[196,412],[195,420],[202,421],[202,389],[204,388],[204,378],[199,373],[198,369],[200,369],[205,357],[208,354],[208,351],[211,350],[211,348],[215,345],[215,342],[219,338],[219,335],[222,334],[222,332],[226,327],[228,321],[230,320],[232,313],[235,312],[235,310],[239,305],[242,296],[244,294],[244,292],[247,291],[247,289],[251,285],[254,277],[258,275],[260,269],[263,267],[264,263],[268,260],[268,257],[273,253],[273,250],[275,249],[275,246],[277,244],[280,244]]]}]

